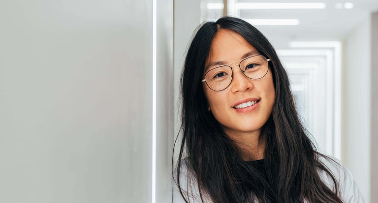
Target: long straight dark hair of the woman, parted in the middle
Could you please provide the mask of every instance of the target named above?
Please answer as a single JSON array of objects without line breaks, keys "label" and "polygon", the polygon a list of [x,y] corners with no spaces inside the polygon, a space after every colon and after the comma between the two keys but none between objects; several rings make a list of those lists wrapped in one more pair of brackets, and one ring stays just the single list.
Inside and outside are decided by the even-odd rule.
[{"label": "long straight dark hair of the woman, parted in the middle", "polygon": [[[261,129],[265,140],[266,174],[241,158],[241,149],[223,131],[211,112],[200,81],[213,38],[220,29],[243,36],[260,54],[270,58],[276,90],[272,115]],[[202,24],[193,37],[181,78],[182,141],[176,166],[176,184],[189,202],[183,185],[194,184],[199,196],[214,203],[341,203],[335,176],[318,157],[295,108],[289,79],[276,51],[249,23],[233,17]],[[184,159],[184,157],[187,157]],[[182,166],[188,169],[181,178]],[[334,187],[322,181],[318,170],[330,175]],[[187,182],[185,182],[187,181]],[[192,181],[192,183],[190,183]],[[187,188],[188,189],[188,188]],[[190,192],[189,192],[190,193]],[[192,194],[193,195],[193,194]]]}]

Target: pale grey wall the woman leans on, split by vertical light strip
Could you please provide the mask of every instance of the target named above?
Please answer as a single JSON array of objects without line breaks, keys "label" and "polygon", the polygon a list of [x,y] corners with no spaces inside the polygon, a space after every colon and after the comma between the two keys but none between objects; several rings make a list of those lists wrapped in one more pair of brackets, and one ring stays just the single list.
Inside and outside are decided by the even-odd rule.
[{"label": "pale grey wall the woman leans on, split by vertical light strip", "polygon": [[[159,2],[165,139],[173,19],[172,1]],[[1,203],[151,202],[152,14],[152,0],[0,1]],[[167,143],[157,148],[160,203],[171,198]]]}]

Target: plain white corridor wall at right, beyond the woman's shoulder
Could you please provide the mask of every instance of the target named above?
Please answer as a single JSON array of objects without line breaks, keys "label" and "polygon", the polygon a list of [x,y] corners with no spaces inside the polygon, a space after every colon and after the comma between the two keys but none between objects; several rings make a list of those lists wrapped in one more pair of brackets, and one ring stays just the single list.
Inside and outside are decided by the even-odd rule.
[{"label": "plain white corridor wall at right, beyond the woman's shoulder", "polygon": [[343,162],[362,195],[371,194],[371,20],[370,15],[345,39],[343,74]]}]

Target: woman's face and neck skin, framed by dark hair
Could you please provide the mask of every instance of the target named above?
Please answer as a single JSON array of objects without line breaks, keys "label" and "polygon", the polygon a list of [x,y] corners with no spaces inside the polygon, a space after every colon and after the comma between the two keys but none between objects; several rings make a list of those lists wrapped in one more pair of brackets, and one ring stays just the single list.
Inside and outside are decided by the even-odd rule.
[{"label": "woman's face and neck skin, framed by dark hair", "polygon": [[[255,56],[250,56],[251,54]],[[246,56],[250,57],[244,58]],[[241,58],[244,59],[240,61]],[[229,73],[222,78],[230,79],[219,88],[221,91],[214,91],[214,88],[210,88],[214,85],[209,86],[208,81],[213,79],[211,84],[216,83],[216,86],[223,82],[214,82],[220,77],[214,78],[214,74],[209,74],[211,72],[206,73],[205,78],[208,75],[211,77],[209,80],[206,79],[209,87],[203,85],[209,110],[231,139],[244,143],[251,150],[257,150],[256,147],[263,146],[259,144],[258,137],[261,127],[272,113],[275,98],[268,61],[241,35],[229,29],[220,29],[214,37],[206,63],[214,64],[213,61],[224,61],[230,65],[211,70],[228,67]],[[230,63],[231,61],[236,62]],[[256,79],[251,80],[251,77]],[[246,142],[247,140],[250,142]],[[261,156],[263,148],[258,150]]]}]

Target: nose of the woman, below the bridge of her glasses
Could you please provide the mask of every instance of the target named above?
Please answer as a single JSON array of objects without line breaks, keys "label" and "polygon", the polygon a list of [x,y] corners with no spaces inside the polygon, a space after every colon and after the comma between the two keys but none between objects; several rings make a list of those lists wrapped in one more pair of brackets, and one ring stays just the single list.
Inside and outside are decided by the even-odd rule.
[{"label": "nose of the woman, below the bridge of her glasses", "polygon": [[253,87],[252,79],[247,78],[240,69],[239,65],[235,65],[233,68],[233,76],[231,82],[231,91],[246,91]]}]

